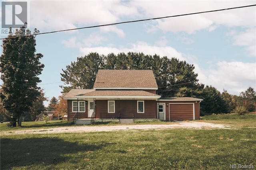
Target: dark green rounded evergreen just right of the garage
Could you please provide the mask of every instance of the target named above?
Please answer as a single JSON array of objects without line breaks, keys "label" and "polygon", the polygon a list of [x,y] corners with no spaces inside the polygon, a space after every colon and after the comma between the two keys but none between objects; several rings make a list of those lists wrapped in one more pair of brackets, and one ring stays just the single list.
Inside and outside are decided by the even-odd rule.
[{"label": "dark green rounded evergreen just right of the garage", "polygon": [[224,113],[226,108],[224,108],[224,100],[222,99],[222,96],[220,94],[220,91],[218,91],[215,87],[212,86],[206,86],[202,90],[202,101],[200,103],[201,111],[202,113]]}]

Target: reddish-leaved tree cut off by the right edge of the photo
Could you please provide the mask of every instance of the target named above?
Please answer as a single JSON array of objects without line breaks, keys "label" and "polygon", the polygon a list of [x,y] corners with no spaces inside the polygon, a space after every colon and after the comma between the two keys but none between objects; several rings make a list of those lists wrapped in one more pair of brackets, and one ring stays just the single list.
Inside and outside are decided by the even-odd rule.
[{"label": "reddish-leaved tree cut off by the right edge of the photo", "polygon": [[252,87],[249,87],[245,92],[241,92],[240,96],[243,98],[243,105],[247,111],[255,111],[256,106],[256,93]]}]

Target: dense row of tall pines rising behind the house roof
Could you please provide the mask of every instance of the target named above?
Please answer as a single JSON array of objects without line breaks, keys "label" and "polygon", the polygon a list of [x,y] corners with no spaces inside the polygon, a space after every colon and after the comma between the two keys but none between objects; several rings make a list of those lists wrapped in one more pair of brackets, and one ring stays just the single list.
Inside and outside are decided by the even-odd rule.
[{"label": "dense row of tall pines rising behind the house roof", "polygon": [[198,84],[194,68],[186,61],[157,54],[151,56],[128,52],[104,56],[90,53],[66,66],[61,80],[70,86],[60,87],[64,94],[70,89],[92,89],[98,69],[152,69],[160,87],[157,93],[162,97],[196,97],[204,85]]}]

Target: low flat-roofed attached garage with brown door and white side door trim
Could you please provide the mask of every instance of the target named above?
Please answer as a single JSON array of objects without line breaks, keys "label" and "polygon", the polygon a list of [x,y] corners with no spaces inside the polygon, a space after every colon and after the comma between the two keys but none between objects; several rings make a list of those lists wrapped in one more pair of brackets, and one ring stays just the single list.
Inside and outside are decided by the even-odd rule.
[{"label": "low flat-roofed attached garage with brown door and white side door trim", "polygon": [[200,118],[200,102],[202,99],[192,97],[161,97],[159,103],[165,103],[165,120],[182,121]]}]

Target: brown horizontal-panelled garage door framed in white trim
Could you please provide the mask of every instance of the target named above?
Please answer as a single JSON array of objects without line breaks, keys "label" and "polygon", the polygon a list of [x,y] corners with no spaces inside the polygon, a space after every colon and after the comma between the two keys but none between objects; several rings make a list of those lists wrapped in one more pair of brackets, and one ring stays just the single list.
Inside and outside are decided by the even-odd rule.
[{"label": "brown horizontal-panelled garage door framed in white trim", "polygon": [[194,119],[193,104],[170,103],[170,119],[173,121],[193,120]]}]

